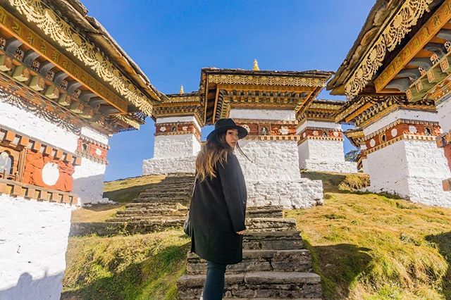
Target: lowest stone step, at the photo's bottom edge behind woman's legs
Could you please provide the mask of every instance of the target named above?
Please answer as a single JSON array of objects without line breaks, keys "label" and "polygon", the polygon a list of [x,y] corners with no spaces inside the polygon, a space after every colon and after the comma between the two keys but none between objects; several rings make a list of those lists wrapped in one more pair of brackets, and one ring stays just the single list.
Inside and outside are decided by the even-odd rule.
[{"label": "lowest stone step, at the photo's bottom edge behind woman's legs", "polygon": [[[199,299],[205,275],[183,275],[177,285],[180,300]],[[223,299],[321,299],[319,275],[302,272],[249,272],[226,275]]]}]

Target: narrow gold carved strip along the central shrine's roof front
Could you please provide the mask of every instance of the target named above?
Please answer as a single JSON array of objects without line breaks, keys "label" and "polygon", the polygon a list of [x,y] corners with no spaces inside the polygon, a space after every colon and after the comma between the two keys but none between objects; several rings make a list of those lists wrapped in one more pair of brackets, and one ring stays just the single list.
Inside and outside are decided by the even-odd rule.
[{"label": "narrow gold carved strip along the central shrine's roof front", "polygon": [[209,83],[229,85],[282,85],[294,87],[324,87],[321,78],[253,76],[253,75],[209,75]]}]

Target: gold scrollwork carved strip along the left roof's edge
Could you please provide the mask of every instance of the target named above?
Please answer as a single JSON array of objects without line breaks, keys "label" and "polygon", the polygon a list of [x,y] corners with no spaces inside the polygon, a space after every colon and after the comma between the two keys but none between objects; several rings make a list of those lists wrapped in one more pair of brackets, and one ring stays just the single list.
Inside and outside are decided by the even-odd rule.
[{"label": "gold scrollwork carved strip along the left roof's edge", "polygon": [[121,71],[109,62],[93,44],[78,35],[70,25],[58,17],[41,0],[8,0],[11,6],[35,23],[45,35],[91,68],[102,80],[108,82],[119,94],[147,115],[152,113],[152,104]]}]

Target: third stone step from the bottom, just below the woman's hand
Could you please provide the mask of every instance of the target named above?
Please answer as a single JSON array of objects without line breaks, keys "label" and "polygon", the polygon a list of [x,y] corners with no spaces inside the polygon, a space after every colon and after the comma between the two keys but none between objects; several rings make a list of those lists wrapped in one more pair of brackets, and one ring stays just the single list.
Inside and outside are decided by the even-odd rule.
[{"label": "third stone step from the bottom, just below the woman's hand", "polygon": [[302,237],[296,230],[272,231],[272,232],[245,232],[243,237],[243,249],[304,249]]}]

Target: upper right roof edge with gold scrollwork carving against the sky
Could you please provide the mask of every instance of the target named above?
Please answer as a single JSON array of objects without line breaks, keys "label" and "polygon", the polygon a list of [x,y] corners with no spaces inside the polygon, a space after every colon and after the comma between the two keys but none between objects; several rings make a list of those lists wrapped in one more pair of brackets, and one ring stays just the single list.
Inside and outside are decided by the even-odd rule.
[{"label": "upper right roof edge with gold scrollwork carving against the sky", "polygon": [[[337,74],[332,94],[374,92],[373,80],[445,0],[378,0]],[[399,91],[390,91],[399,94]]]}]

